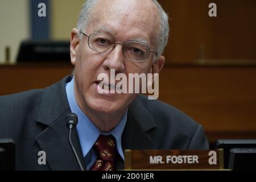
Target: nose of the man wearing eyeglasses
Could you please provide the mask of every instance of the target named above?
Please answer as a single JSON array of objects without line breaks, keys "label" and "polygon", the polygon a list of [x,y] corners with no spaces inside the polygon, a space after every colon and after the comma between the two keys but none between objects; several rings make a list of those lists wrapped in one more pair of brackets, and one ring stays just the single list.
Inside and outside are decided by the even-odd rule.
[{"label": "nose of the man wearing eyeglasses", "polygon": [[115,69],[115,72],[123,72],[125,69],[125,57],[122,51],[122,44],[116,43],[114,49],[104,60],[104,69]]}]

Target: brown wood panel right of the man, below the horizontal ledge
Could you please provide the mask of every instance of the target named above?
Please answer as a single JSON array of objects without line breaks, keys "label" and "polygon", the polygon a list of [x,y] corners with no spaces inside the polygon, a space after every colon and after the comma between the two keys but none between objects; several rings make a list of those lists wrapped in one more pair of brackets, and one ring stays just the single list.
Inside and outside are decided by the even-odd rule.
[{"label": "brown wood panel right of the man, below the horizontal ledge", "polygon": [[159,99],[204,126],[217,138],[256,138],[256,67],[165,67]]}]

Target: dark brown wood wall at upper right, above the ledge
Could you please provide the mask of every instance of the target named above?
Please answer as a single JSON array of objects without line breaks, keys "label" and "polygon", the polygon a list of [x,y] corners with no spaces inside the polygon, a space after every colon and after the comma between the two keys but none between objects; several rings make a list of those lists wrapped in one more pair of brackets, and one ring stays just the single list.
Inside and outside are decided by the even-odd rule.
[{"label": "dark brown wood wall at upper right, above the ledge", "polygon": [[[255,0],[158,0],[170,15],[167,63],[256,59]],[[216,3],[217,17],[208,16]]]}]

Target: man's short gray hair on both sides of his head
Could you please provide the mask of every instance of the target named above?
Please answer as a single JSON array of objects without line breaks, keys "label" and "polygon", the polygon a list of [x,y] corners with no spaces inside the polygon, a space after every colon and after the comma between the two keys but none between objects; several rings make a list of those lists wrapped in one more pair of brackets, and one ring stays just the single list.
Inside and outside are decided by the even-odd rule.
[{"label": "man's short gray hair on both sides of his head", "polygon": [[[77,30],[80,32],[84,30],[90,20],[90,13],[92,13],[93,7],[96,5],[98,0],[87,0],[84,5],[82,6],[82,10],[79,15],[79,20],[77,22]],[[154,2],[156,7],[158,8],[159,15],[160,15],[160,27],[159,27],[159,45],[157,49],[158,56],[163,54],[164,47],[168,42],[169,36],[169,23],[168,23],[168,15],[163,10],[162,6],[156,0],[151,0]],[[80,37],[81,38],[81,37]]]}]

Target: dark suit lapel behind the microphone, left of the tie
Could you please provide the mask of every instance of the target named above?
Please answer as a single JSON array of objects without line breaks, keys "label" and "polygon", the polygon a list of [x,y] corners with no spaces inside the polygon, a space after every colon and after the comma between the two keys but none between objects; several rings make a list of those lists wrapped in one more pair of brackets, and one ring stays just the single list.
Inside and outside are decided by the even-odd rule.
[{"label": "dark suit lapel behind the microphone, left of the tie", "polygon": [[[65,77],[61,82],[45,90],[39,114],[36,117],[37,122],[47,126],[42,133],[36,136],[36,141],[46,152],[47,164],[52,170],[80,170],[69,146],[68,129],[65,123],[65,118],[71,112],[64,88],[68,79],[70,77]],[[72,142],[85,168],[76,130],[72,131]]]}]

